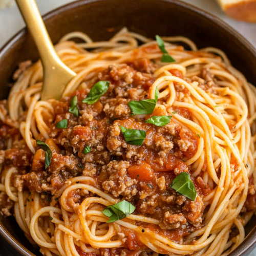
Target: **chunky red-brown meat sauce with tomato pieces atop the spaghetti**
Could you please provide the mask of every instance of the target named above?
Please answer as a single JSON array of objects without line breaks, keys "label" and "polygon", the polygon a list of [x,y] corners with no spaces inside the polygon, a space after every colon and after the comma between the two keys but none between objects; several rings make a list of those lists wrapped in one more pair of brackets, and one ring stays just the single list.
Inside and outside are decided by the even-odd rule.
[{"label": "chunky red-brown meat sauce with tomato pieces atop the spaghetti", "polygon": [[[151,51],[144,49],[143,51]],[[137,55],[143,52],[135,51]],[[145,120],[151,116],[170,115],[162,109],[156,109],[151,115],[134,116],[127,103],[131,100],[148,98],[148,89],[155,81],[154,63],[141,58],[127,65],[111,65],[101,71],[97,79],[110,81],[110,88],[94,104],[86,104],[90,89],[76,91],[69,98],[54,102],[54,121],[48,120],[50,138],[46,143],[52,151],[52,161],[45,169],[45,152],[39,147],[33,156],[26,144],[17,145],[5,153],[5,162],[18,166],[22,183],[20,189],[29,188],[44,195],[54,196],[67,179],[77,176],[89,176],[95,179],[97,187],[113,197],[125,199],[136,206],[134,214],[159,220],[159,225],[136,223],[176,242],[183,243],[184,237],[203,226],[203,197],[212,189],[200,177],[192,178],[197,190],[195,201],[182,196],[170,184],[182,172],[192,173],[186,160],[193,157],[198,148],[198,136],[185,130],[173,118],[164,126],[158,127]],[[183,77],[179,70],[170,70],[177,77]],[[181,87],[181,92],[187,93]],[[69,113],[70,100],[77,95],[79,117]],[[191,119],[189,110],[175,108],[172,115],[178,113]],[[56,128],[56,123],[68,119],[67,129]],[[47,121],[47,120],[46,120]],[[146,132],[141,146],[127,144],[119,126]],[[10,129],[9,129],[10,130]],[[8,131],[9,131],[8,130]],[[0,139],[5,137],[6,127],[0,127]],[[15,131],[14,131],[15,133]],[[21,143],[22,144],[22,143]],[[90,146],[91,152],[83,150]],[[207,166],[205,166],[207,168]],[[73,192],[72,192],[73,193]],[[81,191],[70,193],[74,203],[91,195]],[[247,204],[254,207],[255,195],[248,198]],[[41,197],[43,200],[46,197]],[[69,200],[69,202],[71,202]],[[46,205],[49,202],[45,202]],[[72,206],[72,202],[70,203]],[[138,233],[122,228],[125,248],[100,249],[102,255],[116,255],[125,250],[125,255],[138,255],[147,249],[141,242],[143,232]],[[78,247],[81,256],[94,256],[84,253]]]}]

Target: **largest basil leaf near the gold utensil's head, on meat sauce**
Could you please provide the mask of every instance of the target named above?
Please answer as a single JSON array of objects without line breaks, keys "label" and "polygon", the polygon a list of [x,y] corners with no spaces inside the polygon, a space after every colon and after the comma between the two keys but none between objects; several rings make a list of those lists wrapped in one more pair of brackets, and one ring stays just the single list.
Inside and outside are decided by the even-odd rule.
[{"label": "largest basil leaf near the gold utensil's head, on meat sauce", "polygon": [[109,81],[99,81],[94,84],[87,98],[83,99],[83,103],[93,104],[99,100],[99,98],[108,91],[110,87]]}]

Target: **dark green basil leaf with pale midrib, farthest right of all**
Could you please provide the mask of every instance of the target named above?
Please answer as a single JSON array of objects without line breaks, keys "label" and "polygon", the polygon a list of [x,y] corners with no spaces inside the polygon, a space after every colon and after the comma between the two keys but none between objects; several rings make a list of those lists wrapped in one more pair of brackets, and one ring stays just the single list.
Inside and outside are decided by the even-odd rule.
[{"label": "dark green basil leaf with pale midrib, farthest right of all", "polygon": [[194,183],[191,181],[189,174],[185,172],[179,174],[172,184],[170,184],[170,187],[190,200],[194,201],[197,197],[197,190]]}]

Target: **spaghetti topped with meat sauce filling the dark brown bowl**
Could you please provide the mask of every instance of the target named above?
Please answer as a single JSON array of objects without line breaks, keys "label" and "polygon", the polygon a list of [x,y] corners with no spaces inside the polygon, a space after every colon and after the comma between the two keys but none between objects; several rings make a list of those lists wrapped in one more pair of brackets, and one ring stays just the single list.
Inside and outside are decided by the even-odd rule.
[{"label": "spaghetti topped with meat sauce filling the dark brown bowl", "polygon": [[[109,41],[64,36],[55,49],[77,76],[60,101],[40,101],[40,60],[14,74],[0,105],[2,212],[10,215],[14,202],[18,225],[43,254],[228,255],[243,241],[256,208],[256,89],[221,50],[163,40],[174,63],[161,62],[155,40],[126,28]],[[82,103],[103,80],[108,91]],[[153,114],[132,115],[128,103],[154,100],[157,89]],[[69,111],[75,95],[78,117]],[[145,122],[152,116],[170,120]],[[57,128],[63,119],[67,127]],[[126,143],[119,126],[145,131],[143,144]],[[52,152],[46,169],[36,140]],[[183,172],[194,201],[170,187]],[[135,211],[109,223],[102,211],[121,200]]]}]

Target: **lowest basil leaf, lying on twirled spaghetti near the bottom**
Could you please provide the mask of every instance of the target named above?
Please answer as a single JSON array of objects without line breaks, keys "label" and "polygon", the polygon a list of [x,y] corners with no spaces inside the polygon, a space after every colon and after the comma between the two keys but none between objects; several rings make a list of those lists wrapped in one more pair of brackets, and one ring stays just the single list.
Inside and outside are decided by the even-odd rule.
[{"label": "lowest basil leaf, lying on twirled spaghetti near the bottom", "polygon": [[106,207],[102,214],[109,217],[110,220],[107,223],[115,222],[128,217],[135,210],[135,206],[129,202],[123,200],[117,204],[110,205]]}]

